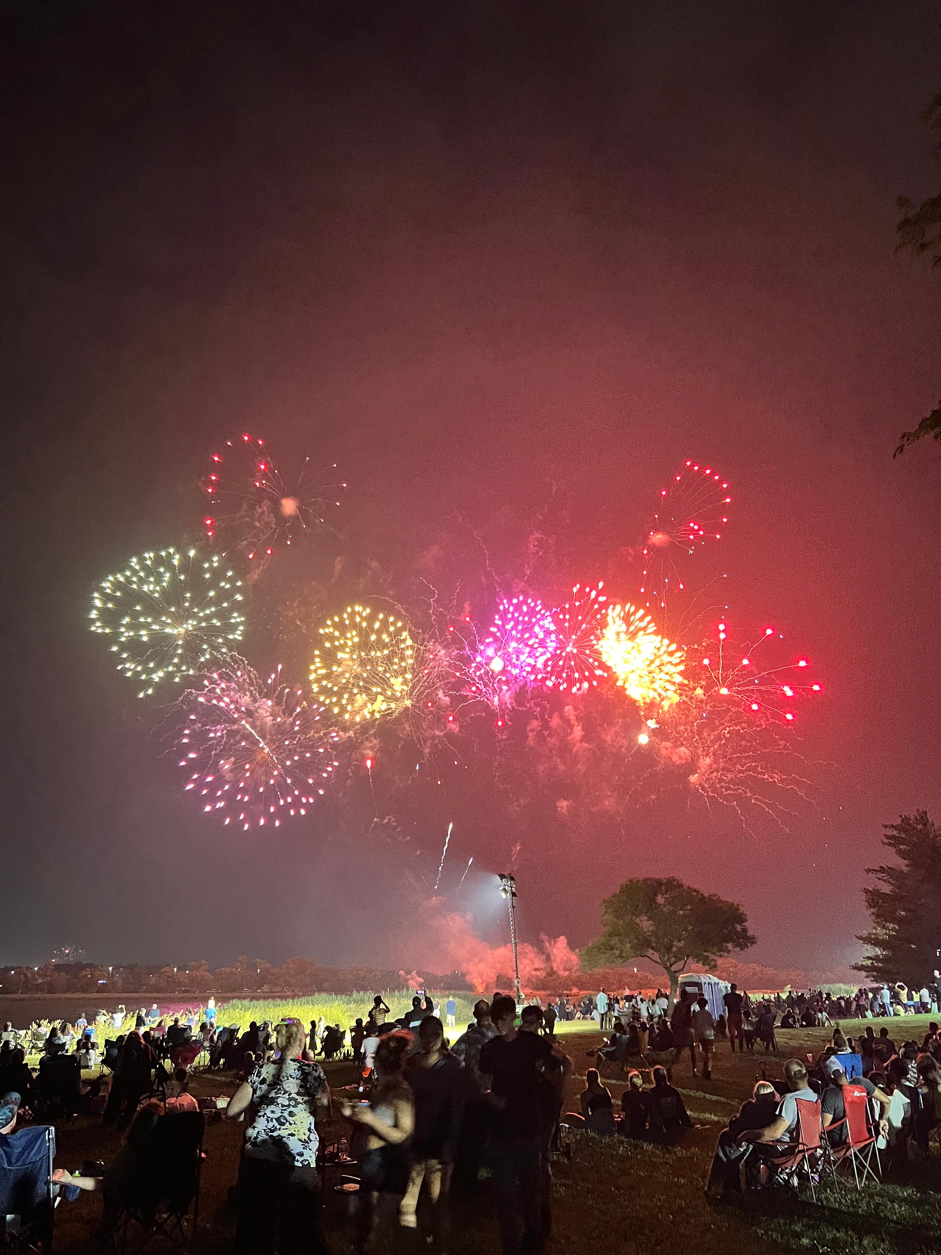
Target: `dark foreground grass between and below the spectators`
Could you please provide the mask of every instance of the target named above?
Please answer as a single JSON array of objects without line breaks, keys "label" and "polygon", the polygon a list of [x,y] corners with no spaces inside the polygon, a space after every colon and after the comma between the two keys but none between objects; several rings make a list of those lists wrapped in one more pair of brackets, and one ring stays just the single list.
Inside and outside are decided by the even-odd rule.
[{"label": "dark foreground grass between and below the spectators", "polygon": [[[920,1037],[927,1019],[892,1022],[896,1040]],[[856,1027],[856,1025],[854,1025]],[[903,1029],[903,1030],[902,1030]],[[714,1079],[690,1073],[689,1059],[676,1068],[675,1083],[683,1091],[696,1123],[678,1147],[660,1147],[624,1138],[596,1138],[572,1133],[571,1162],[553,1165],[553,1235],[548,1250],[555,1255],[600,1255],[601,1251],[676,1255],[678,1246],[698,1255],[774,1255],[774,1252],[822,1251],[833,1255],[927,1255],[941,1251],[941,1157],[902,1165],[877,1188],[857,1194],[838,1187],[794,1199],[789,1194],[755,1195],[742,1206],[709,1204],[703,1185],[713,1146],[728,1117],[748,1097],[762,1064],[769,1078],[780,1076],[789,1055],[819,1050],[827,1033],[817,1029],[779,1033],[779,1055],[731,1055],[719,1045]],[[575,1062],[576,1077],[570,1098],[576,1106],[586,1067],[586,1050],[597,1045],[597,1035],[570,1038],[565,1048]],[[349,1064],[329,1065],[330,1083],[339,1087],[353,1079]],[[231,1093],[231,1077],[196,1078],[199,1094]],[[622,1086],[611,1084],[615,1101]],[[77,1119],[58,1131],[58,1163],[80,1166],[84,1158],[110,1162],[119,1138],[100,1124]],[[235,1214],[227,1202],[228,1187],[238,1168],[241,1127],[212,1123],[206,1131],[202,1214],[198,1252],[231,1249]],[[56,1220],[56,1251],[94,1249],[92,1231],[100,1204],[83,1195],[77,1204],[63,1204]],[[498,1237],[487,1183],[474,1202],[455,1201],[454,1255],[498,1250]],[[343,1201],[326,1200],[326,1229],[335,1255],[351,1251],[351,1226]],[[396,1250],[391,1231],[380,1239],[381,1252]],[[153,1249],[157,1249],[156,1246]],[[405,1244],[403,1251],[427,1249],[423,1242]]]}]

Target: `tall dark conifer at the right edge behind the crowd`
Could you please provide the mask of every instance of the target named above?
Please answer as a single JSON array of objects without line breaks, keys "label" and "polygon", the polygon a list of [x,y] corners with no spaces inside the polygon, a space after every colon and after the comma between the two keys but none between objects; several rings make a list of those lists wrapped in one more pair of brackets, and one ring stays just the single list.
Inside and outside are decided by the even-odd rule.
[{"label": "tall dark conifer at the right edge behind the crowd", "polygon": [[863,889],[872,927],[859,941],[872,953],[856,970],[921,985],[941,968],[941,826],[916,811],[883,827],[898,863],[866,868],[878,885]]}]

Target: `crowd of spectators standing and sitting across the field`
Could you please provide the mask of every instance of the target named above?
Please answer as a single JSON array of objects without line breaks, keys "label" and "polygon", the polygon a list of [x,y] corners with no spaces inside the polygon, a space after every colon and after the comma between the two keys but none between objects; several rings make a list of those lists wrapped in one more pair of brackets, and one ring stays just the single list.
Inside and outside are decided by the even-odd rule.
[{"label": "crowd of spectators standing and sitting across the field", "polygon": [[[646,996],[601,989],[577,1004],[560,998],[542,1007],[533,999],[522,1008],[496,994],[477,1001],[473,1022],[450,1044],[454,999],[445,999],[442,1017],[425,991],[394,1019],[376,995],[348,1029],[322,1017],[309,1028],[297,1019],[252,1022],[245,1030],[217,1027],[215,1004],[173,1017],[156,1005],[130,1014],[122,1007],[105,1020],[103,1013],[90,1024],[80,1015],[74,1025],[41,1023],[21,1032],[6,1024],[0,1034],[0,1135],[13,1136],[18,1121],[25,1127],[24,1118],[72,1118],[78,1111],[125,1133],[107,1172],[58,1172],[55,1180],[69,1196],[103,1192],[107,1235],[136,1157],[143,1162],[159,1118],[217,1111],[215,1099],[188,1092],[191,1069],[201,1059],[206,1069],[237,1073],[225,1117],[245,1123],[236,1190],[238,1255],[311,1244],[327,1250],[320,1192],[327,1145],[339,1147],[341,1167],[356,1170],[358,1251],[390,1249],[383,1245],[390,1225],[399,1234],[414,1230],[422,1197],[429,1241],[447,1250],[452,1194],[473,1195],[481,1177],[489,1176],[502,1249],[514,1255],[542,1249],[550,1232],[551,1162],[566,1126],[602,1137],[675,1142],[691,1127],[673,1084],[673,1072],[686,1057],[691,1072],[701,1068],[709,1079],[716,1043],[728,1040],[733,1053],[753,1048],[765,1039],[763,1024],[773,1034],[778,1017],[782,1024],[793,1015],[795,1023],[818,1027],[837,1015],[885,1019],[908,1005],[900,989],[897,1000],[892,991],[883,999],[881,986],[873,1012],[863,993],[869,991],[848,999],[819,990],[749,998],[731,985],[721,1007],[713,1003],[711,1009],[704,995],[689,990],[673,1007],[660,990]],[[937,1005],[936,994],[928,1007]],[[596,1067],[587,1069],[576,1111],[565,1111],[573,1063],[556,1033],[570,1015],[610,1030]],[[837,1022],[816,1060],[790,1059],[783,1081],[755,1087],[719,1138],[710,1196],[731,1199],[743,1183],[763,1183],[795,1136],[799,1102],[818,1102],[827,1136],[838,1138],[843,1096],[857,1089],[877,1109],[886,1145],[906,1153],[910,1143],[925,1150],[941,1118],[937,1024],[920,1043],[896,1043],[888,1024],[878,1032],[872,1024],[857,1034],[848,1029]],[[109,1030],[117,1035],[108,1037]],[[28,1052],[40,1053],[35,1072]],[[356,1060],[358,1081],[331,1096],[321,1063],[340,1055]],[[605,1083],[612,1068],[624,1082],[617,1103]]]}]

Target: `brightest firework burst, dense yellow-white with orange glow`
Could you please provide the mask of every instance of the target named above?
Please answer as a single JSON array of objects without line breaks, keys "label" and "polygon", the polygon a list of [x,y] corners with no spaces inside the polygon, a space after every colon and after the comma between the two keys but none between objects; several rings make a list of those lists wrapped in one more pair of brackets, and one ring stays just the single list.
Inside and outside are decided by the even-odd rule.
[{"label": "brightest firework burst, dense yellow-white with orange glow", "polygon": [[636,606],[609,606],[598,654],[619,688],[639,705],[670,703],[683,679],[685,656]]}]

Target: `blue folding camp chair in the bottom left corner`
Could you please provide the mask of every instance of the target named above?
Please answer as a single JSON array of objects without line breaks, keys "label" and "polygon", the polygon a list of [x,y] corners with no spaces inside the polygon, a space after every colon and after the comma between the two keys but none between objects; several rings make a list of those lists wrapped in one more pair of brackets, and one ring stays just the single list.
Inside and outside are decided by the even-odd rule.
[{"label": "blue folding camp chair in the bottom left corner", "polygon": [[34,1124],[0,1137],[0,1246],[51,1251],[55,1130]]}]

